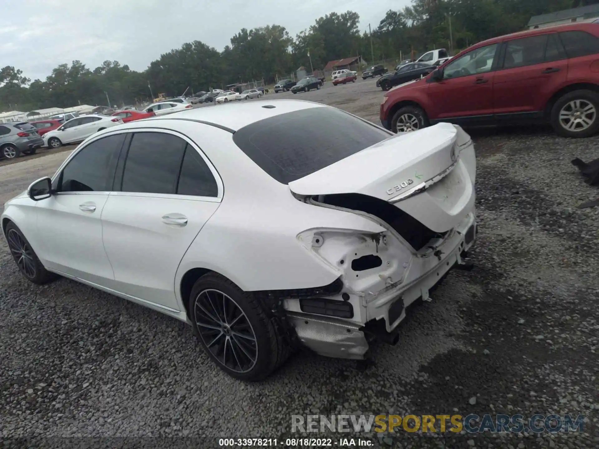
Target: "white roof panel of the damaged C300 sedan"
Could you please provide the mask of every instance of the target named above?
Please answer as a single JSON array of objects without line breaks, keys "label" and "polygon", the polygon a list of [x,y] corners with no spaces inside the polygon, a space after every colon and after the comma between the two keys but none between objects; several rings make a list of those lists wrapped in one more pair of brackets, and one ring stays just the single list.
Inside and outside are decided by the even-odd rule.
[{"label": "white roof panel of the damaged C300 sedan", "polygon": [[[228,107],[196,108],[180,111],[167,116],[158,116],[145,119],[143,123],[129,122],[119,125],[119,129],[125,128],[148,128],[153,123],[160,126],[164,120],[191,120],[208,123],[217,128],[225,128],[229,131],[237,131],[244,126],[251,125],[259,120],[279,116],[293,111],[310,108],[325,108],[326,105],[303,100],[259,100],[252,102],[234,102]],[[162,122],[164,123],[164,122]],[[162,126],[160,126],[162,128]],[[115,128],[110,128],[115,129]]]}]

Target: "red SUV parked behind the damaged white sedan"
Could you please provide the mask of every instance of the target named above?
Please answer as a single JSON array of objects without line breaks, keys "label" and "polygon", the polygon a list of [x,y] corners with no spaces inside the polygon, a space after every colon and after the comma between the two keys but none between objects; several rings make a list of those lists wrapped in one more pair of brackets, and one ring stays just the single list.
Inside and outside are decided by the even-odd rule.
[{"label": "red SUV parked behind the damaged white sedan", "polygon": [[558,25],[478,43],[426,78],[385,93],[380,120],[394,132],[549,122],[558,134],[599,131],[599,23]]}]

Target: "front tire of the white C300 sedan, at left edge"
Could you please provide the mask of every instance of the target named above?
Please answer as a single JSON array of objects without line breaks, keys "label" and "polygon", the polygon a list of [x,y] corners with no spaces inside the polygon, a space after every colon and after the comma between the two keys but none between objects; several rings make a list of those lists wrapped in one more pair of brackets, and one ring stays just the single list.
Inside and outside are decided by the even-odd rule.
[{"label": "front tire of the white C300 sedan, at left edge", "polygon": [[5,233],[8,241],[8,249],[13,256],[14,262],[19,267],[19,271],[29,281],[34,284],[46,284],[59,277],[57,274],[47,271],[44,268],[29,241],[17,225],[9,222]]}]

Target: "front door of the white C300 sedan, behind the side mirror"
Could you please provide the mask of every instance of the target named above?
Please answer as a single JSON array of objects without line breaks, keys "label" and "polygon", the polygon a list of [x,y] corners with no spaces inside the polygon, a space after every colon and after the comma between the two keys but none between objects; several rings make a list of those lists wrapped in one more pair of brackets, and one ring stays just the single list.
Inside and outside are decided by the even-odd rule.
[{"label": "front door of the white C300 sedan, behind the side mirror", "polygon": [[100,286],[113,281],[100,217],[125,136],[88,142],[55,175],[52,187],[56,193],[36,203],[36,251],[47,268]]}]

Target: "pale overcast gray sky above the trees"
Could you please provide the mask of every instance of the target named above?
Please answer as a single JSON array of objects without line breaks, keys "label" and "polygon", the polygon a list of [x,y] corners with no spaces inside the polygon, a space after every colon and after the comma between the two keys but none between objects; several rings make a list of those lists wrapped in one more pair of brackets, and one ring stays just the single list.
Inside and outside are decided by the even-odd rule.
[{"label": "pale overcast gray sky above the trees", "polygon": [[[118,60],[144,70],[162,53],[199,40],[217,50],[241,28],[285,26],[292,37],[335,11],[360,15],[361,31],[410,0],[0,0],[0,66],[45,80],[60,63],[94,69]],[[7,18],[13,18],[6,20]],[[339,55],[343,57],[344,55]]]}]

